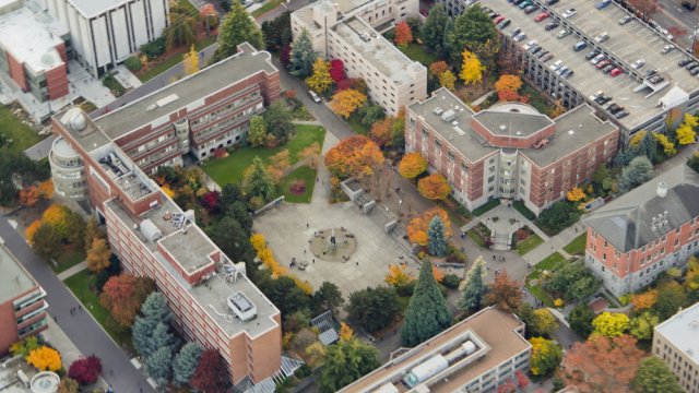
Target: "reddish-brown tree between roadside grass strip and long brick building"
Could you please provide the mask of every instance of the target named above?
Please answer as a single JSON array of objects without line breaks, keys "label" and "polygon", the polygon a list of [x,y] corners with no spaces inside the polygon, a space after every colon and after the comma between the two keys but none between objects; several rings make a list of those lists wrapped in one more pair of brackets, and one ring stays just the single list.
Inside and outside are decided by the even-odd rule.
[{"label": "reddish-brown tree between roadside grass strip and long brick building", "polygon": [[139,308],[154,287],[155,285],[150,278],[134,277],[122,273],[107,281],[102,288],[99,303],[109,310],[115,322],[122,327],[129,327],[133,323]]}]

